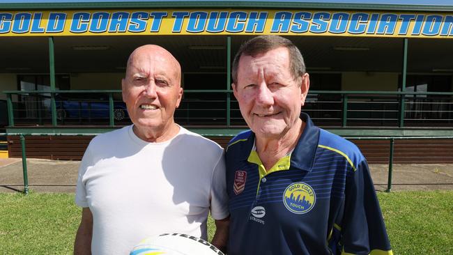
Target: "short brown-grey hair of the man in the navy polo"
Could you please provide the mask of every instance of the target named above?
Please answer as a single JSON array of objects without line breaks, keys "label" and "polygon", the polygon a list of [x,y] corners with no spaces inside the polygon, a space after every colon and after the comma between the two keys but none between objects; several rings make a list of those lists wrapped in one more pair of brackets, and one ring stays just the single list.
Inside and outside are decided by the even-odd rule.
[{"label": "short brown-grey hair of the man in the navy polo", "polygon": [[233,83],[238,82],[238,66],[240,56],[252,56],[255,57],[259,54],[264,54],[272,49],[279,47],[285,47],[289,50],[289,66],[291,68],[291,75],[296,79],[305,74],[305,63],[300,54],[298,47],[295,47],[291,40],[283,38],[282,36],[257,36],[250,40],[247,40],[240,45],[238,53],[234,56],[233,68],[231,70],[233,76]]}]

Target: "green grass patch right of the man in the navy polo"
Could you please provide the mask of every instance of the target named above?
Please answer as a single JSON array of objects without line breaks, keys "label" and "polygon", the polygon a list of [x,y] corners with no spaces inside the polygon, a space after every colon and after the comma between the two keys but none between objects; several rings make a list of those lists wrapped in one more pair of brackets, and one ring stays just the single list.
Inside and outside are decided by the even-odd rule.
[{"label": "green grass patch right of the man in the navy polo", "polygon": [[394,254],[453,254],[453,191],[379,193]]}]

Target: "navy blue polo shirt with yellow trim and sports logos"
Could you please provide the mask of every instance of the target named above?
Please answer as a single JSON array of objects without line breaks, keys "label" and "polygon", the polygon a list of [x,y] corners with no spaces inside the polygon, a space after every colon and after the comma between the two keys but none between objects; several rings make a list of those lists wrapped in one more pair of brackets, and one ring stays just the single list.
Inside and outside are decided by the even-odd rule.
[{"label": "navy blue polo shirt with yellow trim and sports logos", "polygon": [[228,254],[392,254],[360,150],[301,118],[298,144],[268,171],[253,132],[230,141]]}]

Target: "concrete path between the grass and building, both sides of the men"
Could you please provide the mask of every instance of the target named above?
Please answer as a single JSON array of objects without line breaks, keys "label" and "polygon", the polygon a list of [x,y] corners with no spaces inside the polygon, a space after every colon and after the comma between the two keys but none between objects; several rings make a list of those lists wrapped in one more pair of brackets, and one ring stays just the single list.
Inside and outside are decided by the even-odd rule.
[{"label": "concrete path between the grass and building, both sides of the men", "polygon": [[[29,189],[33,192],[75,192],[79,161],[28,159]],[[370,165],[376,190],[387,189],[387,164]],[[392,191],[453,190],[453,164],[394,164]],[[24,189],[22,160],[0,159],[0,192]]]}]

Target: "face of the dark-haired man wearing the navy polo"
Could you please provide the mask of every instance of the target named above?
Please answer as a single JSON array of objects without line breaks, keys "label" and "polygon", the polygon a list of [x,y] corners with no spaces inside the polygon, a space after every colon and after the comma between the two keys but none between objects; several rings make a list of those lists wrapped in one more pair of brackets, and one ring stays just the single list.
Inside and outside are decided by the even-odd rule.
[{"label": "face of the dark-haired man wearing the navy polo", "polygon": [[308,88],[308,74],[294,79],[289,50],[279,47],[255,57],[240,56],[233,93],[257,137],[279,138],[298,121]]}]

